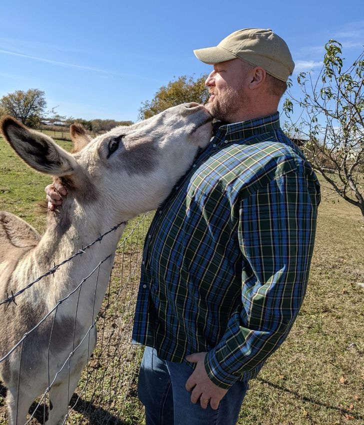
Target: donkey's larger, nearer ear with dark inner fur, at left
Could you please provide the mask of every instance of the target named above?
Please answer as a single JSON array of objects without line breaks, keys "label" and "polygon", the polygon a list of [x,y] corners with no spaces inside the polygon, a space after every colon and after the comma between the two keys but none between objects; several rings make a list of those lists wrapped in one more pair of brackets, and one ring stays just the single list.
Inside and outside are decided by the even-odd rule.
[{"label": "donkey's larger, nearer ear with dark inner fur, at left", "polygon": [[73,174],[77,163],[44,134],[29,130],[12,117],[4,117],[0,129],[12,149],[30,167],[52,176]]}]

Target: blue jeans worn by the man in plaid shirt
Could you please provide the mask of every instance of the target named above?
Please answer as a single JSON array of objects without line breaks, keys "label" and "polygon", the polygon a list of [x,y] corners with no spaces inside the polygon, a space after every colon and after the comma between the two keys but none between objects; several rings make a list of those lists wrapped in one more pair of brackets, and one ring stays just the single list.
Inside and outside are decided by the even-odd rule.
[{"label": "blue jeans worn by the man in plaid shirt", "polygon": [[154,348],[145,347],[138,379],[138,396],[145,406],[146,425],[234,425],[248,389],[235,382],[216,410],[193,404],[184,385],[193,369],[182,363],[160,360]]}]

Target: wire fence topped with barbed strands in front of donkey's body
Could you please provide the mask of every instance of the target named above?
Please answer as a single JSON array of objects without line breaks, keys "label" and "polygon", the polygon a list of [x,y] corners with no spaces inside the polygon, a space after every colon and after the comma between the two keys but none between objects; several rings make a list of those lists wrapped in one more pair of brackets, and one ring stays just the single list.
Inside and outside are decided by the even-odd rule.
[{"label": "wire fence topped with barbed strands in front of donkey's body", "polygon": [[[12,375],[15,373],[17,376],[9,378],[12,388],[5,389],[4,386],[0,386],[0,425],[7,423],[6,405],[1,400],[1,396],[5,398],[5,392],[7,392],[7,404],[12,405],[14,425],[44,423],[48,418],[49,425],[53,425],[53,421],[54,424],[58,424],[60,422],[56,421],[57,415],[64,414],[61,423],[68,424],[121,425],[125,423],[123,420],[125,415],[129,418],[128,409],[130,409],[130,403],[135,401],[136,375],[142,353],[139,346],[131,345],[131,330],[140,277],[142,245],[151,217],[152,213],[148,213],[125,229],[121,242],[116,248],[108,288],[98,313],[95,311],[97,308],[95,300],[99,276],[102,275],[100,270],[102,264],[109,260],[110,255],[91,267],[92,269],[80,282],[74,282],[72,290],[58,299],[53,308],[39,320],[37,319],[36,323],[30,326],[31,328],[26,329],[26,332],[10,349],[4,353],[2,347],[0,351],[2,375],[9,374],[11,370]],[[81,247],[79,251],[61,263],[54,264],[53,268],[27,283],[21,290],[7,294],[6,298],[0,300],[0,312],[1,308],[12,308],[15,311],[22,302],[25,302],[28,294],[31,296],[33,285],[44,284],[43,281],[53,278],[52,275],[56,278],[56,271],[66,267],[76,257],[82,256],[78,261],[87,261],[86,250],[96,242],[102,243],[102,239],[121,224],[123,223],[100,235],[87,246]],[[82,313],[78,310],[82,308],[82,296],[85,293],[82,291],[82,286],[89,285],[90,280],[94,282],[94,286],[88,287],[88,291],[89,288],[94,291],[93,305],[88,306],[91,310],[88,316],[92,319],[88,320],[86,327],[83,326],[82,334],[80,334],[78,321]],[[71,322],[68,319],[68,323],[64,322],[62,317],[64,311],[62,308],[66,304],[75,307]],[[11,329],[11,323],[5,323],[3,318],[1,320],[2,332]],[[96,326],[97,343],[92,351]],[[65,332],[68,332],[68,335]],[[55,352],[54,339],[61,339],[62,355]],[[39,359],[35,361],[33,358],[29,359],[29,354],[34,352],[32,348],[34,346],[44,348],[44,344],[47,346],[45,349],[39,349]],[[64,354],[64,346],[68,347],[66,354]],[[89,358],[88,362],[87,358]],[[85,367],[83,367],[84,364],[86,364]],[[45,366],[46,370],[37,369],[37,365],[40,368]],[[31,367],[33,371],[29,370]],[[83,367],[80,377],[75,372],[79,367]],[[32,391],[37,391],[36,388],[41,385],[44,373],[46,373],[47,383],[36,394],[36,401],[29,402]],[[72,382],[75,379],[78,384],[73,393]],[[70,400],[69,403],[68,400]],[[26,405],[27,402],[28,405]],[[26,419],[23,418],[24,403],[25,414],[32,403]]]}]

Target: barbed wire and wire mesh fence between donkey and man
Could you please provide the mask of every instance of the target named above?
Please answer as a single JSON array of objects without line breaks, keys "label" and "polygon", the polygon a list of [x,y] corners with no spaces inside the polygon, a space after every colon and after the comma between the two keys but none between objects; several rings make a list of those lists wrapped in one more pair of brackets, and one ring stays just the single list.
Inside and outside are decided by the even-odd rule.
[{"label": "barbed wire and wire mesh fence between donkey and man", "polygon": [[[137,269],[138,269],[138,264],[139,261],[141,260],[140,257],[140,253],[139,253],[139,243],[140,243],[140,238],[139,238],[139,227],[140,224],[142,223],[142,238],[145,236],[145,230],[144,230],[144,222],[145,222],[145,218],[146,216],[148,216],[150,213],[146,213],[141,219],[139,219],[139,221],[133,226],[133,228],[130,230],[130,232],[128,233],[127,236],[125,236],[122,241],[116,246],[115,251],[116,251],[116,256],[117,256],[117,250],[119,250],[120,247],[123,246],[123,252],[120,254],[122,256],[122,262],[121,262],[121,278],[120,281],[123,281],[123,270],[124,267],[126,269],[129,270],[129,275],[126,276],[126,281],[123,282],[123,284],[121,285],[121,287],[117,288],[116,292],[113,292],[113,299],[110,299],[110,293],[111,293],[111,275],[113,274],[113,268],[111,268],[110,270],[110,276],[109,276],[109,289],[107,292],[107,296],[104,296],[104,302],[102,304],[102,312],[99,311],[95,311],[95,296],[96,296],[96,290],[97,290],[97,282],[98,282],[98,273],[100,271],[100,267],[102,265],[103,262],[105,262],[107,259],[109,259],[110,257],[112,257],[113,252],[109,255],[107,255],[103,260],[99,261],[99,263],[92,269],[92,271],[86,276],[84,277],[77,286],[74,287],[74,289],[72,289],[66,296],[64,296],[63,298],[59,299],[56,304],[38,321],[38,323],[36,323],[36,325],[34,325],[30,330],[28,330],[27,332],[25,332],[22,336],[22,338],[16,343],[14,344],[11,349],[5,354],[3,355],[3,357],[0,359],[0,363],[2,361],[4,361],[4,359],[6,359],[15,349],[20,349],[20,358],[19,358],[19,366],[18,366],[18,390],[19,390],[19,384],[20,384],[20,379],[21,378],[21,356],[25,355],[25,352],[22,354],[23,351],[23,343],[25,341],[25,339],[35,330],[37,329],[45,320],[47,320],[52,314],[54,314],[53,316],[53,321],[52,321],[52,326],[51,326],[51,330],[50,330],[50,336],[49,336],[49,341],[48,341],[48,352],[47,352],[47,356],[48,356],[48,384],[46,388],[43,388],[42,391],[44,391],[44,393],[42,395],[39,395],[39,401],[37,402],[37,405],[35,407],[35,409],[33,410],[33,412],[30,415],[30,418],[28,418],[26,420],[25,423],[30,423],[31,419],[34,417],[35,412],[37,411],[38,407],[41,405],[41,403],[44,403],[44,410],[43,410],[43,421],[46,418],[46,400],[49,401],[49,391],[52,388],[52,386],[54,386],[54,383],[57,379],[57,377],[59,376],[59,373],[62,372],[62,370],[65,369],[65,367],[67,367],[67,362],[68,362],[68,385],[67,385],[67,400],[70,400],[71,395],[73,393],[73,389],[72,389],[72,393],[69,393],[69,378],[70,378],[70,361],[72,356],[74,355],[74,353],[80,348],[80,346],[82,344],[84,344],[85,339],[88,336],[88,343],[87,343],[87,358],[90,358],[90,355],[93,351],[93,345],[92,347],[90,347],[90,335],[91,335],[91,330],[94,328],[94,326],[96,325],[96,322],[99,321],[100,319],[103,318],[103,323],[101,322],[101,329],[102,329],[102,335],[101,335],[101,350],[100,353],[98,354],[98,360],[97,361],[101,361],[102,363],[104,363],[104,361],[102,360],[101,357],[101,353],[102,350],[104,348],[106,348],[106,355],[107,355],[107,359],[106,359],[106,364],[102,365],[101,368],[101,375],[99,376],[101,379],[96,379],[96,375],[94,376],[94,380],[92,380],[91,375],[89,375],[89,363],[86,363],[86,381],[84,383],[82,383],[81,385],[81,389],[77,391],[78,396],[76,397],[76,401],[73,402],[72,401],[72,406],[70,408],[66,408],[66,412],[65,412],[65,417],[62,421],[62,423],[65,423],[67,420],[67,417],[70,413],[70,411],[72,411],[72,409],[76,406],[80,395],[83,391],[85,391],[85,395],[86,395],[86,390],[87,393],[89,393],[89,387],[90,387],[90,383],[91,383],[91,388],[94,385],[93,388],[93,392],[92,394],[89,396],[86,396],[84,399],[84,409],[83,410],[79,410],[77,409],[77,411],[82,411],[82,413],[86,413],[86,399],[90,400],[87,401],[87,405],[88,406],[93,406],[93,404],[89,404],[91,402],[93,402],[93,398],[97,399],[97,403],[102,403],[104,404],[104,400],[103,400],[103,396],[99,395],[101,391],[101,394],[103,394],[104,388],[108,388],[107,391],[110,392],[109,396],[109,400],[111,400],[111,393],[115,394],[116,396],[114,396],[114,399],[118,400],[118,404],[115,404],[115,406],[117,407],[117,411],[121,413],[121,410],[123,408],[123,403],[126,400],[126,395],[129,391],[129,389],[131,388],[131,384],[132,384],[132,380],[133,380],[133,375],[136,372],[137,367],[134,365],[131,367],[129,367],[128,363],[129,362],[125,362],[124,364],[122,364],[122,362],[116,362],[114,361],[114,358],[117,357],[120,346],[124,346],[127,347],[128,341],[125,339],[126,335],[124,333],[124,326],[127,327],[127,329],[130,330],[130,325],[132,324],[132,318],[131,318],[131,309],[132,309],[132,302],[134,297],[136,296],[136,288],[133,290],[133,295],[130,296],[128,299],[125,296],[125,299],[123,301],[122,304],[122,309],[123,309],[123,313],[121,313],[120,315],[120,311],[119,311],[119,299],[120,299],[120,295],[121,292],[126,289],[126,292],[128,291],[128,287],[129,287],[129,282],[132,279],[132,275],[133,274],[137,274]],[[149,215],[150,216],[150,215]],[[104,234],[100,235],[97,239],[95,239],[94,241],[92,241],[91,243],[89,243],[88,245],[86,245],[84,248],[82,247],[82,249],[79,249],[78,251],[76,251],[74,254],[72,254],[70,257],[68,257],[66,260],[60,262],[57,265],[54,265],[54,267],[50,270],[48,270],[46,273],[42,274],[41,276],[39,276],[37,279],[35,279],[34,281],[30,282],[29,284],[27,284],[24,288],[22,288],[21,290],[19,290],[18,292],[16,292],[15,294],[12,294],[10,297],[7,297],[6,299],[4,299],[3,301],[1,301],[1,304],[5,304],[5,303],[10,303],[10,302],[15,302],[13,297],[17,297],[18,295],[20,295],[21,293],[23,293],[24,291],[26,291],[28,288],[30,288],[33,284],[35,284],[36,282],[39,282],[41,279],[43,279],[44,277],[50,275],[50,274],[54,274],[54,272],[56,270],[58,270],[59,267],[61,267],[63,264],[67,263],[68,261],[72,260],[74,257],[76,257],[77,255],[81,255],[82,253],[84,253],[84,251],[91,247],[92,245],[94,245],[96,242],[100,242],[102,241],[103,237],[105,235],[107,235],[108,233],[115,231],[118,227],[120,227],[122,224],[125,224],[124,222],[121,222],[119,224],[117,224],[116,226],[112,227],[111,229],[109,229],[108,231],[106,231]],[[136,249],[133,248],[133,237],[136,236]],[[129,238],[131,239],[131,241],[129,240]],[[129,240],[128,242],[128,246],[130,248],[128,248],[128,254],[130,255],[130,258],[126,260],[125,262],[125,258],[124,255],[126,255],[125,253],[125,246],[126,246],[126,241]],[[115,256],[115,258],[116,258]],[[127,264],[126,264],[127,263]],[[119,269],[116,270],[117,273],[120,272]],[[76,317],[77,317],[77,309],[78,309],[78,301],[79,301],[79,297],[80,297],[80,291],[81,291],[81,287],[84,284],[84,282],[89,279],[93,274],[95,274],[95,272],[97,272],[97,277],[96,277],[96,282],[95,282],[95,287],[94,287],[94,294],[93,294],[93,305],[92,305],[92,321],[89,322],[89,325],[87,325],[87,329],[84,329],[82,331],[82,335],[77,336],[77,345],[75,346],[75,326],[76,326]],[[94,280],[93,280],[94,281]],[[93,288],[93,286],[92,286]],[[65,354],[65,356],[63,357],[61,363],[59,366],[57,366],[57,369],[54,370],[52,372],[52,375],[49,375],[49,349],[50,349],[50,339],[52,336],[52,332],[53,332],[53,326],[54,326],[54,321],[55,321],[55,316],[57,314],[57,309],[58,307],[65,302],[70,296],[72,296],[73,294],[75,294],[78,291],[78,297],[77,297],[77,303],[75,306],[75,316],[74,316],[74,325],[73,325],[73,340],[72,343],[69,344],[69,351],[67,352],[67,354]],[[77,296],[77,295],[76,295]],[[74,298],[75,300],[75,298]],[[16,304],[16,303],[15,303]],[[115,307],[112,307],[110,311],[115,310],[114,312],[111,313],[111,315],[109,314],[108,316],[108,320],[110,317],[112,317],[112,315],[117,318],[118,324],[112,327],[107,327],[109,326],[109,323],[105,323],[106,320],[106,312],[109,311],[111,305],[115,305]],[[18,304],[16,304],[18,305]],[[96,314],[96,317],[95,317]],[[122,315],[125,315],[127,317],[127,321],[126,321],[126,325],[125,322],[123,322],[122,319]],[[106,331],[107,337],[104,340],[104,332]],[[117,332],[116,332],[117,331]],[[116,342],[113,340],[116,338]],[[111,342],[112,341],[112,342]],[[98,342],[98,346],[99,346],[100,341]],[[84,349],[86,348],[86,346],[84,345]],[[125,348],[126,349],[126,348]],[[82,348],[83,350],[83,348]],[[128,351],[131,352],[136,352],[137,348],[133,349],[133,348],[127,348]],[[83,351],[81,351],[82,353]],[[82,355],[82,354],[81,354]],[[123,354],[123,358],[126,358],[126,356],[128,356],[129,359],[131,359],[130,357],[131,354]],[[65,358],[66,357],[66,358]],[[110,360],[111,358],[111,360]],[[64,361],[63,361],[64,360]],[[110,361],[109,361],[110,360]],[[73,366],[72,366],[73,367]],[[111,371],[107,371],[108,368],[111,369]],[[116,368],[118,368],[118,370],[116,371]],[[122,369],[122,373],[120,373],[120,370]],[[129,370],[130,369],[130,370]],[[92,371],[92,367],[90,369]],[[97,372],[98,368],[94,369],[93,371]],[[55,374],[54,374],[55,373]],[[63,372],[64,373],[64,372]],[[94,373],[93,373],[94,374]],[[63,378],[61,378],[63,379]],[[65,378],[67,380],[67,378]],[[105,379],[107,379],[107,384],[105,382]],[[121,387],[123,388],[123,396],[122,398],[120,398],[119,393],[120,393],[120,379],[121,379]],[[82,381],[83,382],[83,381]],[[111,382],[113,382],[113,384],[116,384],[116,387],[111,388]],[[15,384],[16,385],[16,384]],[[96,389],[97,388],[97,389]],[[98,392],[96,392],[98,391]],[[16,397],[16,415],[17,415],[17,403],[18,403],[18,397]],[[51,402],[51,399],[50,401]],[[111,401],[109,401],[111,402]],[[108,412],[109,408],[111,408],[111,405],[114,404],[115,401],[112,401],[110,405],[106,404],[106,410],[100,408],[102,410],[102,414],[103,416],[101,417],[102,419],[102,423],[104,423],[104,420],[108,420],[107,417],[111,417],[110,413]],[[90,408],[90,407],[88,407]],[[97,407],[92,407],[93,409],[95,409],[95,411],[98,411]],[[49,411],[49,410],[48,410]],[[16,419],[17,420],[17,419]],[[41,419],[39,419],[41,420]],[[115,421],[115,423],[117,422],[117,417],[113,416],[112,420]],[[2,423],[2,422],[1,422]],[[33,423],[33,422],[32,422]],[[105,422],[106,423],[106,422]],[[108,423],[108,422],[107,422]],[[117,422],[118,423],[118,422]]]}]

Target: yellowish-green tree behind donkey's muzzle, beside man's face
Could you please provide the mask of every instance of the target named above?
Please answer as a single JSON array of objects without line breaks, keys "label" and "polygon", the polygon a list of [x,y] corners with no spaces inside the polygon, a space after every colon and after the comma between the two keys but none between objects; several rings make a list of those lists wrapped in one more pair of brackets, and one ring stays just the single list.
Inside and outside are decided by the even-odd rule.
[{"label": "yellowish-green tree behind donkey's muzzle, beside man's face", "polygon": [[171,106],[185,102],[207,102],[208,90],[204,85],[206,75],[201,75],[196,80],[185,75],[170,81],[166,86],[160,87],[151,101],[141,104],[138,118],[145,120],[164,111]]}]

